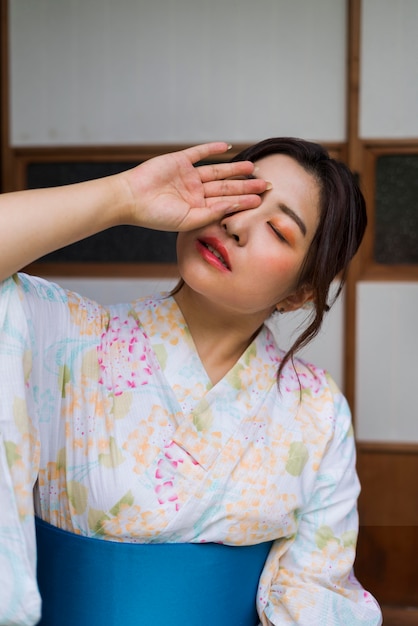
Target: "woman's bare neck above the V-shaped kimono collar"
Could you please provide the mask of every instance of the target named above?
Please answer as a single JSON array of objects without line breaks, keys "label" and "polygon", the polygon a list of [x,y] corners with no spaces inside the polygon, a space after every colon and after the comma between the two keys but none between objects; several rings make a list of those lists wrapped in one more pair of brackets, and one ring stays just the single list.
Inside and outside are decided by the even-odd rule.
[{"label": "woman's bare neck above the V-shaped kimono collar", "polygon": [[203,366],[215,385],[252,343],[264,319],[225,311],[187,285],[183,285],[174,297]]}]

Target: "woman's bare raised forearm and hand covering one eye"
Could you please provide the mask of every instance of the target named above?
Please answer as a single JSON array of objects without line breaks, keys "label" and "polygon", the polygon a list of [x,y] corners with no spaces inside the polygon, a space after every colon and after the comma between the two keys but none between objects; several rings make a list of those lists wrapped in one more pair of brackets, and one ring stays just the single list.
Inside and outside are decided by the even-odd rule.
[{"label": "woman's bare raised forearm and hand covering one eye", "polygon": [[256,208],[267,183],[248,178],[252,163],[194,167],[226,149],[223,142],[203,144],[107,178],[0,196],[0,280],[111,226],[192,230],[229,211]]}]

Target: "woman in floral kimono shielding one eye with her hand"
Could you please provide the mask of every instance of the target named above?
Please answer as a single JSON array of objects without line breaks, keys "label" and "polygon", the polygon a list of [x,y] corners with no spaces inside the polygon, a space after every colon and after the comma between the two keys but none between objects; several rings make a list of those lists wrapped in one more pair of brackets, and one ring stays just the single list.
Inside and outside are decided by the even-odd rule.
[{"label": "woman in floral kimono shielding one eye with her hand", "polygon": [[[117,608],[96,623],[381,623],[375,600],[352,573],[359,486],[349,409],[325,372],[294,357],[318,331],[331,281],[344,278],[360,244],[364,202],[345,166],[301,140],[271,139],[229,165],[192,167],[225,149],[209,144],[100,181],[1,198],[1,432],[8,462],[1,515],[5,552],[12,546],[20,553],[13,562],[27,585],[20,598],[0,591],[2,624],[36,623],[34,486],[43,520],[38,546],[55,527],[67,539],[94,538],[95,546],[119,550],[138,543],[265,550],[252,571],[254,597],[237,589],[251,571],[247,576],[243,564],[240,577],[235,567],[240,583],[222,583],[222,611],[210,585],[223,564],[197,583],[201,572],[188,576],[199,552],[188,565],[175,557],[162,583],[163,557],[145,593],[156,590],[157,600],[149,597],[149,608],[147,598],[135,600],[141,609],[132,621],[127,613],[118,619]],[[121,223],[179,231],[181,282],[173,294],[103,308],[33,277],[9,278],[57,247]],[[313,320],[284,354],[267,323],[275,312],[308,302]],[[12,532],[16,511],[20,523]],[[108,590],[100,600],[79,597],[100,572],[74,591],[77,576],[65,578],[65,559],[54,575],[49,555],[46,565],[41,558],[45,593],[58,576],[71,587],[62,620],[71,604],[83,604],[78,624],[108,606]],[[124,585],[141,574],[137,568],[124,577],[128,567],[126,560],[116,568]],[[141,585],[150,576],[146,571]],[[178,589],[169,601],[174,579]],[[123,586],[112,607],[119,593]],[[180,596],[185,605],[177,615],[170,602]],[[254,614],[241,614],[247,601]],[[7,613],[13,602],[15,621]]]}]

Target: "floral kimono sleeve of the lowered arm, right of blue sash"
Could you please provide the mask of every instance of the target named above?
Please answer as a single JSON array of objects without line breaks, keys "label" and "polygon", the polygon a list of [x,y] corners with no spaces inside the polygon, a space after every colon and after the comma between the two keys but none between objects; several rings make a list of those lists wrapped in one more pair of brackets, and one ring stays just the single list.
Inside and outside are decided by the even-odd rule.
[{"label": "floral kimono sleeve of the lowered arm, right of blue sash", "polygon": [[[272,547],[261,578],[263,626],[326,624],[378,626],[381,611],[354,576],[358,533],[351,416],[341,393],[334,399],[334,437],[322,458],[313,492],[299,511],[296,534]],[[264,612],[263,612],[264,609]]]}]

